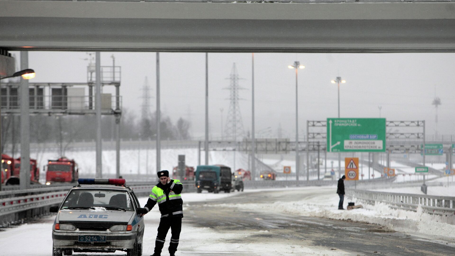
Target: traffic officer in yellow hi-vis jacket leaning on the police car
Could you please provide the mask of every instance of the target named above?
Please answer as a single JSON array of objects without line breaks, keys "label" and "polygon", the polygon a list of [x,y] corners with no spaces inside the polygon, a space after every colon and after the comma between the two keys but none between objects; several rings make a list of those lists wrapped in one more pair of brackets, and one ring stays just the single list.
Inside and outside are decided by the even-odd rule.
[{"label": "traffic officer in yellow hi-vis jacket leaning on the police car", "polygon": [[144,206],[148,213],[158,203],[161,212],[157,240],[155,241],[155,252],[152,256],[161,256],[161,250],[169,228],[171,228],[172,233],[169,254],[170,256],[175,256],[180,231],[182,230],[183,200],[180,193],[182,193],[183,185],[178,179],[170,179],[167,170],[159,171],[157,174],[160,182],[153,187],[147,204]]}]

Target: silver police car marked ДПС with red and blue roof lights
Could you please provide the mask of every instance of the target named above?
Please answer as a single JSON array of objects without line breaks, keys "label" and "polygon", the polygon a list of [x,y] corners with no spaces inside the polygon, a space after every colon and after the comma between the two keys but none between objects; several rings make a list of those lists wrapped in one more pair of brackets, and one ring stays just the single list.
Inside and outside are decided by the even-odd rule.
[{"label": "silver police car marked \u0414\u041f\u0421 with red and blue roof lights", "polygon": [[52,206],[52,256],[74,252],[126,251],[142,255],[144,220],[125,179],[78,179],[60,206]]}]

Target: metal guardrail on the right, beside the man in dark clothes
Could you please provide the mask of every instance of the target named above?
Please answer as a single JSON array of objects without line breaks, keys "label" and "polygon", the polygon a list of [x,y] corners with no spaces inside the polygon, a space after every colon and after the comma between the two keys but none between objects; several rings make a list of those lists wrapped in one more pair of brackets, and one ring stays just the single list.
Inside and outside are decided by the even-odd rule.
[{"label": "metal guardrail on the right, beside the man in dark clothes", "polygon": [[453,196],[416,195],[360,189],[347,189],[346,195],[369,204],[382,202],[394,209],[417,211],[420,206],[430,214],[455,214],[455,197]]}]

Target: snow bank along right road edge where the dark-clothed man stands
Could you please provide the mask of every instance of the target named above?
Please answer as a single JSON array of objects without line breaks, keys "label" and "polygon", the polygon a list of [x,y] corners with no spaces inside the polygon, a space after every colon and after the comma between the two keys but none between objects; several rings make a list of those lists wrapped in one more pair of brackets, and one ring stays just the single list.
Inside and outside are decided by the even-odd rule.
[{"label": "snow bank along right road edge where the dark-clothed man stands", "polygon": [[[383,203],[375,205],[362,204],[362,209],[338,210],[339,197],[334,193],[333,188],[313,188],[318,189],[320,195],[311,195],[308,199],[293,202],[275,203],[252,203],[252,204],[229,204],[228,206],[237,207],[243,210],[257,209],[258,211],[273,212],[277,214],[302,215],[309,217],[323,217],[336,220],[353,220],[370,224],[382,225],[388,229],[420,233],[431,236],[442,236],[455,238],[454,225],[455,216],[430,215],[418,210],[396,210]],[[295,189],[296,196],[305,198],[305,193],[311,191],[309,188]],[[313,192],[312,191],[312,192]],[[344,208],[348,202],[354,201],[359,205],[359,201],[345,199]]]}]

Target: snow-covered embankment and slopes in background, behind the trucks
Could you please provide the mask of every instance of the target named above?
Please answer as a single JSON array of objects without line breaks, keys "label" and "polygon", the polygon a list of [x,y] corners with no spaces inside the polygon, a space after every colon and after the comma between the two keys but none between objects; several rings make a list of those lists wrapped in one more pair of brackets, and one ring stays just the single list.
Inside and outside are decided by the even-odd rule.
[{"label": "snow-covered embankment and slopes in background, behind the trucks", "polygon": [[[197,148],[170,148],[161,150],[161,168],[172,170],[173,167],[177,166],[178,155],[185,155],[186,164],[188,166],[197,166],[198,163],[198,150]],[[201,161],[204,160],[204,151],[201,151]],[[57,159],[57,152],[44,152],[44,153],[33,153],[32,158],[37,159],[38,166],[40,167],[40,182],[45,183],[45,172],[43,166],[47,163],[48,159]],[[95,175],[95,151],[68,151],[66,152],[66,157],[69,159],[75,159],[76,163],[79,166],[79,171],[81,174],[93,174]],[[121,174],[153,174],[155,173],[156,164],[156,151],[155,149],[141,149],[141,150],[121,150],[120,151],[120,172]],[[259,155],[259,159],[262,160],[265,164],[268,164],[271,168],[277,171],[278,180],[286,179],[295,179],[295,175],[286,177],[286,174],[283,174],[284,166],[291,166],[291,171],[295,172],[295,155],[293,154],[283,154],[283,155]],[[303,158],[302,158],[303,159]],[[303,159],[303,164],[306,164],[306,159]],[[325,171],[325,161],[323,158],[320,159],[321,165],[320,168],[320,179],[324,179]],[[335,176],[333,179],[339,179],[338,175],[338,160],[337,159],[327,159],[327,171],[330,172],[332,169],[335,170]],[[316,159],[313,159],[313,162],[316,163]],[[236,152],[235,158],[234,153],[229,151],[210,151],[209,152],[209,164],[225,164],[230,166],[232,169],[248,169],[249,161],[248,154]],[[430,167],[435,169],[445,168],[445,164],[427,164]],[[341,160],[341,167],[344,169],[344,159]],[[116,172],[116,152],[114,150],[104,150],[102,152],[102,168],[103,173],[115,174]],[[300,170],[301,176],[306,172],[306,167],[302,167]],[[395,161],[391,161],[391,168],[395,168],[397,178],[395,182],[403,181],[415,181],[422,180],[421,174],[415,174],[415,168],[409,167],[403,164],[399,164]],[[260,170],[261,171],[261,170]],[[375,171],[370,169],[368,172],[368,165],[359,163],[359,173],[364,174],[360,179],[370,179],[380,178],[383,172]],[[374,177],[371,175],[374,174]],[[435,175],[426,175],[426,179],[436,177]],[[310,179],[317,179],[317,175],[310,176]],[[325,178],[330,179],[330,178]]]}]

